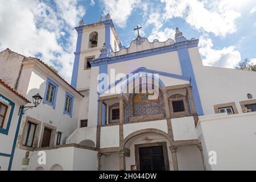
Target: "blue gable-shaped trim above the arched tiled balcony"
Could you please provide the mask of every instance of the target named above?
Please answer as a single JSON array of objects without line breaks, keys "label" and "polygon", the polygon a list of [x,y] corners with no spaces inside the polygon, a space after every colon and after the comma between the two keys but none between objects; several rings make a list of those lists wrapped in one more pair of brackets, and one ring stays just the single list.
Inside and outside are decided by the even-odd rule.
[{"label": "blue gable-shaped trim above the arched tiled balcony", "polygon": [[[144,73],[151,73],[151,74],[159,74],[159,75],[162,75],[162,76],[167,76],[167,77],[171,77],[171,78],[176,78],[176,79],[179,79],[179,80],[185,80],[185,81],[191,81],[191,78],[190,77],[185,77],[185,76],[181,76],[181,75],[175,75],[175,74],[172,74],[172,73],[166,73],[166,72],[160,72],[160,71],[155,71],[155,70],[152,70],[152,69],[147,69],[145,67],[140,67],[140,68],[137,68],[135,69],[133,72],[131,72],[131,74],[135,74],[135,73],[139,73],[139,72],[144,72]],[[137,75],[138,77],[138,75]],[[136,78],[137,78],[136,77]],[[110,90],[111,88],[113,88],[115,85],[117,85],[119,82],[125,80],[129,78],[129,74],[127,74],[125,77],[121,78],[120,80],[117,80],[115,81],[114,83],[110,84],[108,86],[108,88],[102,90],[102,92],[98,92],[98,94],[102,94],[104,92],[106,92],[106,90]],[[162,87],[165,87],[164,83],[162,80],[160,80],[160,78],[158,78],[158,80],[160,85]]]}]

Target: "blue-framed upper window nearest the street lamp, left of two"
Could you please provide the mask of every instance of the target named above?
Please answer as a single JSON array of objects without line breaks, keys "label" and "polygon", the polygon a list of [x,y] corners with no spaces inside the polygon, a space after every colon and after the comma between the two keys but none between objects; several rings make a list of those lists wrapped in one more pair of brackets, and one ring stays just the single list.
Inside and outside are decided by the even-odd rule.
[{"label": "blue-framed upper window nearest the street lamp, left of two", "polygon": [[59,85],[53,82],[51,79],[47,78],[46,83],[46,92],[44,93],[44,104],[48,104],[55,109],[56,106],[56,97],[57,97],[57,90]]}]

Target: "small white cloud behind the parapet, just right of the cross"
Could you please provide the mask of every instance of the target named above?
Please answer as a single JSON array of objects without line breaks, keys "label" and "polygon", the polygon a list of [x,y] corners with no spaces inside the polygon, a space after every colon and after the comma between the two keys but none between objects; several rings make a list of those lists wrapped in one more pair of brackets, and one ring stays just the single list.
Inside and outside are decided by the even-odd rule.
[{"label": "small white cloud behind the parapet, just right of the cross", "polygon": [[156,34],[148,36],[148,40],[152,42],[154,39],[158,39],[160,42],[164,42],[167,39],[174,39],[175,30],[172,28],[164,28],[164,31],[159,31]]}]

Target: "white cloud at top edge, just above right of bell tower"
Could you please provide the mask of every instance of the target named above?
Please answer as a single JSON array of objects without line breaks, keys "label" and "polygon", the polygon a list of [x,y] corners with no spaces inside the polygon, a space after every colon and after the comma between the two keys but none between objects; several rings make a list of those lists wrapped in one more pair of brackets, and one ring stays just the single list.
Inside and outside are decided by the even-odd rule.
[{"label": "white cloud at top edge, just above right of bell tower", "polygon": [[125,27],[127,19],[132,11],[137,8],[140,0],[102,0],[105,14],[110,14],[114,23],[119,27]]}]

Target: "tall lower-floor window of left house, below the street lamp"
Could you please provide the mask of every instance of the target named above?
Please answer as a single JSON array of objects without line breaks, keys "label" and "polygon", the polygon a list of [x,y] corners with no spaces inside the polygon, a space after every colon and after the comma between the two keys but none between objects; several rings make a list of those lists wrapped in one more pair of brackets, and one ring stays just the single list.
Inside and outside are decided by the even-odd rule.
[{"label": "tall lower-floor window of left house, below the street lamp", "polygon": [[27,122],[27,125],[25,126],[24,129],[24,138],[22,145],[26,147],[32,147],[33,145],[33,140],[35,137],[35,130],[36,130],[36,125],[31,122]]}]

